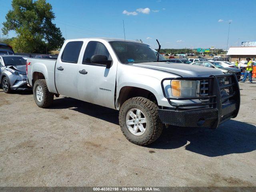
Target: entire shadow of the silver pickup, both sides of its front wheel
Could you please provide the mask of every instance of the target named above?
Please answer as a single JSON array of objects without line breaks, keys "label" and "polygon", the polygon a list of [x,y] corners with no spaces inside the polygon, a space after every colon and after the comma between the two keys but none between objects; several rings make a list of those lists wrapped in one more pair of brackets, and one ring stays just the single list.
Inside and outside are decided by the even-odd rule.
[{"label": "entire shadow of the silver pickup, both sides of its front wheel", "polygon": [[[75,110],[119,125],[118,111],[73,98],[55,99],[51,109]],[[150,150],[185,147],[186,150],[209,157],[246,153],[256,150],[256,126],[236,120],[228,120],[216,130],[170,126],[164,128],[158,140],[145,147]]]}]

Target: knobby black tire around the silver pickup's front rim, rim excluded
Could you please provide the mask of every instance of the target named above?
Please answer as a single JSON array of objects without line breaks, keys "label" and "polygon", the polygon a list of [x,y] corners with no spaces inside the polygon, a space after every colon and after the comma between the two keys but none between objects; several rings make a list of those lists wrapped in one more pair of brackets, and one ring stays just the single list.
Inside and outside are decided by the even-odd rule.
[{"label": "knobby black tire around the silver pickup's front rim, rim excluded", "polygon": [[[146,131],[140,136],[132,134],[126,126],[126,115],[132,108],[141,110],[147,119]],[[141,146],[148,145],[157,140],[163,130],[163,124],[158,115],[158,106],[143,97],[134,97],[122,104],[119,112],[119,124],[124,136],[130,142]]]}]

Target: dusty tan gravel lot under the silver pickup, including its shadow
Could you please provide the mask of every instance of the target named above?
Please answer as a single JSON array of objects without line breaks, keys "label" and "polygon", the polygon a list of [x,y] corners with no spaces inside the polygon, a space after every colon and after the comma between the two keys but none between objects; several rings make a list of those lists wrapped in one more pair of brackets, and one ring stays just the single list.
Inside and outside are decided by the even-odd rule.
[{"label": "dusty tan gravel lot under the silver pickup, including its shadow", "polygon": [[238,117],[216,130],[164,129],[126,140],[118,111],[67,97],[38,108],[0,89],[0,186],[256,186],[256,84],[241,84]]}]

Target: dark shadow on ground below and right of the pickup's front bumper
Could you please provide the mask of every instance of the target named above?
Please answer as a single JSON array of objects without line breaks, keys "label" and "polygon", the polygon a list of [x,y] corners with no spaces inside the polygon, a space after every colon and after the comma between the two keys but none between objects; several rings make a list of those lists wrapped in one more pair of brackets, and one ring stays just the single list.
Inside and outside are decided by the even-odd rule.
[{"label": "dark shadow on ground below and right of the pickup's front bumper", "polygon": [[148,148],[186,150],[208,157],[256,150],[256,126],[246,122],[228,120],[216,130],[206,128],[169,127]]}]

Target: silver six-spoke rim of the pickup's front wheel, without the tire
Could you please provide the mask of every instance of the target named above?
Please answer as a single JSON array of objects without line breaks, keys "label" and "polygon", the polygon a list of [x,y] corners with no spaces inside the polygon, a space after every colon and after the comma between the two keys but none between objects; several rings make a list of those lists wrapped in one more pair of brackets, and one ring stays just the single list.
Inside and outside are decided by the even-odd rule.
[{"label": "silver six-spoke rim of the pickup's front wheel, without the tire", "polygon": [[146,116],[141,110],[132,108],[126,114],[126,126],[132,134],[140,136],[147,129]]}]

